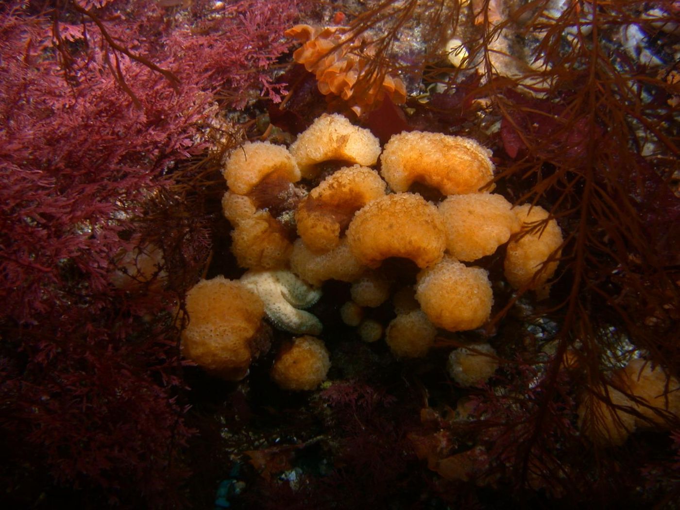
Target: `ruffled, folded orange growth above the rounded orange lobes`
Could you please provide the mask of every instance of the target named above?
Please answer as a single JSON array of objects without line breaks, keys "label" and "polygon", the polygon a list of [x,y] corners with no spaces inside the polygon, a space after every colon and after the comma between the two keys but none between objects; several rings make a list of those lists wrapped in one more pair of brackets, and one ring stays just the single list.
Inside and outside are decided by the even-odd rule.
[{"label": "ruffled, folded orange growth above the rounded orange lobes", "polygon": [[285,32],[303,43],[293,58],[316,75],[319,91],[339,96],[357,116],[373,109],[385,97],[396,104],[406,100],[404,83],[389,73],[369,76],[374,47],[366,37],[355,37],[347,27],[311,27],[299,24]]}]

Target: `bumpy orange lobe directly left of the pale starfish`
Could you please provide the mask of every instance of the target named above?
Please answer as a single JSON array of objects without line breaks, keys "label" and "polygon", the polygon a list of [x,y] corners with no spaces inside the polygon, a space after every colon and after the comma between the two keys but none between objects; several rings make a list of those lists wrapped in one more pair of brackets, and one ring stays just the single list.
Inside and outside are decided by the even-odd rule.
[{"label": "bumpy orange lobe directly left of the pale starfish", "polygon": [[260,298],[222,276],[201,280],[186,294],[189,324],[182,352],[206,371],[239,380],[248,373],[254,337],[265,315]]}]

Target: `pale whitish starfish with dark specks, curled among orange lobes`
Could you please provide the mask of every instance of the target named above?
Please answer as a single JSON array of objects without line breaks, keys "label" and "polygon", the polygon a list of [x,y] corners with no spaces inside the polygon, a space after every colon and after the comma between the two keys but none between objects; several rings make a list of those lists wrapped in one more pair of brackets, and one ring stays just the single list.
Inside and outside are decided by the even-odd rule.
[{"label": "pale whitish starfish with dark specks, curled among orange lobes", "polygon": [[284,269],[251,270],[241,276],[241,283],[260,296],[262,303],[265,303],[267,318],[276,328],[299,335],[321,333],[321,321],[301,309],[319,301],[321,290],[309,286]]}]

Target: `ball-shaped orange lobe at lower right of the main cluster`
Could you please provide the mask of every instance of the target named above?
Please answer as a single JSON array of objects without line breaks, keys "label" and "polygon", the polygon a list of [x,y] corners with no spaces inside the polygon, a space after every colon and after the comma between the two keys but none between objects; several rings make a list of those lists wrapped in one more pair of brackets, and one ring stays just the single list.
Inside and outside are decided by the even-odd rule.
[{"label": "ball-shaped orange lobe at lower right of the main cluster", "polygon": [[494,303],[488,272],[452,257],[420,271],[415,299],[433,324],[449,331],[479,328]]}]

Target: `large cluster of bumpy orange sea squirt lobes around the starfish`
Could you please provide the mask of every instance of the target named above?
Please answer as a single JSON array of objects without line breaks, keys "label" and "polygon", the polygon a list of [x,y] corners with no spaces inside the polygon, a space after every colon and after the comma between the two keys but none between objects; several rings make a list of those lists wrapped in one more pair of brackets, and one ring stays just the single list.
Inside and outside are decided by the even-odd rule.
[{"label": "large cluster of bumpy orange sea squirt lobes around the starfish", "polygon": [[[417,155],[412,157],[409,152]],[[556,258],[552,250],[562,242],[556,221],[540,207],[513,209],[500,195],[481,191],[492,179],[494,167],[489,156],[486,148],[472,140],[402,133],[392,137],[381,157],[385,182],[370,168],[380,157],[377,138],[337,114],[315,120],[290,151],[267,142],[245,143],[233,151],[224,168],[228,190],[222,207],[233,228],[231,249],[246,269],[272,274],[288,271],[318,288],[328,279],[352,284],[356,302],[343,307],[343,318],[354,324],[366,341],[379,339],[385,326],[364,309],[381,305],[393,293],[397,317],[387,328],[388,345],[401,358],[425,356],[437,328],[475,329],[490,317],[493,293],[488,272],[464,262],[490,255],[510,239],[513,255],[506,260],[505,271],[513,286],[547,288],[556,268],[556,260],[544,265],[549,256]],[[340,168],[307,191],[328,161]],[[421,194],[409,192],[415,182],[436,187],[447,197],[437,206]],[[281,207],[282,203],[288,205]],[[517,237],[522,234],[520,228],[530,228],[541,218],[547,223],[543,235]],[[389,271],[380,268],[388,258],[413,262],[414,269],[420,271],[415,287],[401,284],[394,289]],[[540,286],[536,286],[539,277],[533,275],[542,267]],[[201,282],[197,287],[201,290],[205,285]],[[224,292],[235,294],[233,286],[240,288],[238,282],[232,282],[223,285]],[[199,290],[190,291],[188,302],[203,292]],[[254,316],[261,320],[260,299],[242,291],[254,300],[253,307],[258,310]],[[220,318],[215,309],[218,317],[210,322],[203,308],[188,307],[189,333],[183,335],[186,356],[214,373],[226,369],[242,377],[252,357],[247,338],[241,343],[227,342],[226,352],[232,354],[226,355],[221,354],[222,347],[209,347],[207,340],[198,342],[191,333],[196,324],[226,324],[232,316],[243,315],[239,310],[229,309],[222,314],[228,318]],[[252,335],[253,327],[246,333]],[[286,324],[280,327],[285,330]],[[225,335],[231,341],[232,337]],[[239,333],[241,336],[247,337]],[[225,342],[209,338],[217,345]],[[309,345],[318,347],[319,343],[316,339]],[[305,352],[317,350],[309,347]],[[293,347],[286,347],[288,351],[297,352]],[[284,361],[273,371],[278,374],[273,375],[275,381],[284,388],[304,386],[287,382],[292,377],[283,370],[288,357],[279,357]],[[236,377],[233,373],[228,377]]]}]

